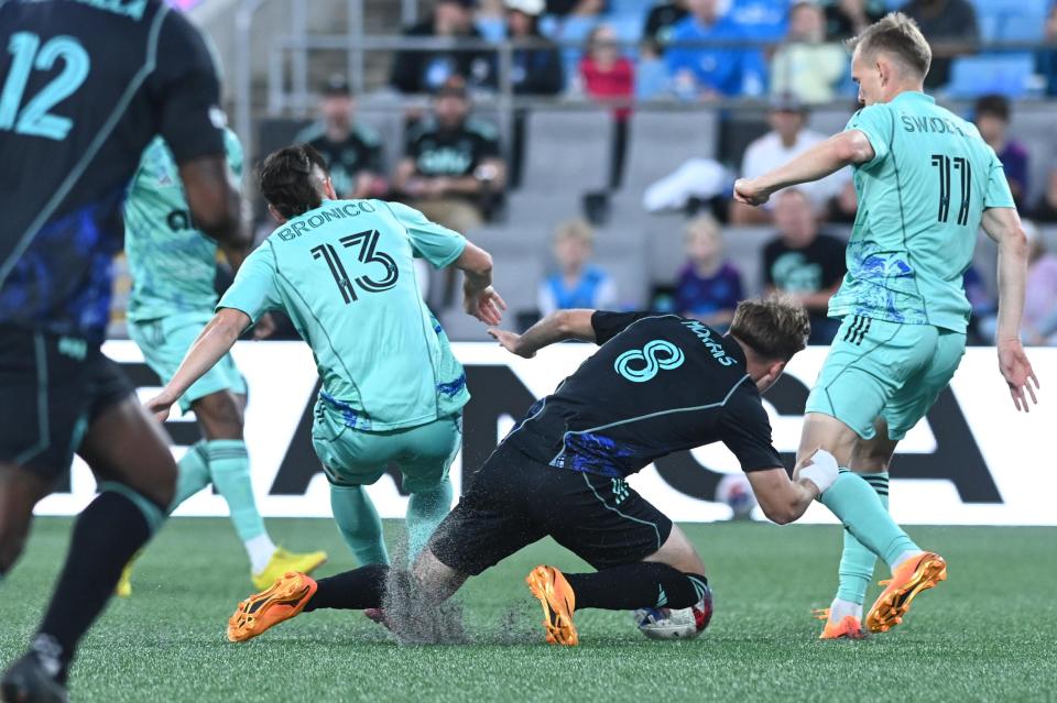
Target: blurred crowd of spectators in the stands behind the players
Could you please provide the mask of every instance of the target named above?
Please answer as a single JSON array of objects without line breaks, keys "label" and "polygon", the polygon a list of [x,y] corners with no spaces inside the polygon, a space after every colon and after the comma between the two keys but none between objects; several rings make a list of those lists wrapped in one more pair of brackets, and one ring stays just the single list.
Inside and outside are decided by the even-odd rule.
[{"label": "blurred crowd of spectators in the stands behind the players", "polygon": [[[853,35],[885,11],[883,0],[783,2],[781,0],[675,0],[633,13],[632,32],[619,0],[438,0],[433,14],[407,30],[410,36],[526,42],[513,54],[517,94],[575,91],[613,101],[611,188],[621,179],[631,106],[628,101],[666,92],[687,100],[716,96],[766,96],[765,131],[743,145],[722,166],[693,160],[666,179],[666,201],[653,210],[685,213],[685,263],[667,279],[654,282],[647,305],[699,319],[719,329],[731,320],[738,300],[758,293],[781,292],[803,300],[810,312],[811,343],[827,344],[837,323],[826,317],[829,298],[846,273],[844,242],[854,222],[857,201],[846,169],[815,184],[780,191],[762,208],[732,202],[734,176],[753,177],[797,156],[828,134],[808,128],[813,106],[847,92],[848,54],[839,40]],[[911,0],[904,10],[935,42],[950,40],[954,52],[971,52],[980,37],[978,18],[968,0]],[[1051,13],[1053,14],[1053,13]],[[1057,20],[1046,25],[1057,35]],[[634,29],[634,28],[632,28]],[[623,45],[641,37],[638,52]],[[582,51],[559,48],[555,40],[584,40]],[[733,44],[696,48],[680,43],[702,40],[778,42],[773,51]],[[454,45],[453,45],[454,46]],[[1054,62],[1057,65],[1057,62]],[[571,67],[571,70],[570,70]],[[934,62],[933,87],[950,79],[950,61]],[[316,121],[296,136],[323,154],[340,197],[402,200],[429,219],[472,238],[489,221],[502,220],[506,194],[517,187],[524,143],[524,111],[515,113],[512,144],[502,144],[498,125],[475,111],[477,91],[494,89],[497,69],[490,52],[406,52],[393,61],[392,85],[401,91],[432,96],[431,107],[413,112],[406,123],[402,156],[386,173],[379,135],[358,118],[357,102],[344,76],[319,89]],[[621,102],[621,101],[625,102]],[[1028,199],[1029,164],[1042,158],[1011,134],[1015,102],[1002,94],[980,96],[967,114],[999,155],[1022,216],[1045,229],[1057,223],[1057,167],[1042,196]],[[607,108],[610,109],[610,108]],[[851,106],[849,105],[849,114]],[[693,118],[689,118],[693,119]],[[673,165],[673,167],[676,165]],[[731,168],[727,168],[731,166]],[[1037,173],[1037,171],[1036,171]],[[701,184],[713,182],[706,193]],[[686,193],[680,189],[686,183]],[[1036,184],[1037,185],[1037,184]],[[673,196],[673,194],[675,194]],[[551,273],[538,282],[536,309],[519,310],[522,326],[555,309],[629,306],[620,282],[593,261],[596,230],[606,223],[601,207],[585,198],[584,212],[570,212],[553,232],[549,253],[540,252]],[[266,223],[262,226],[268,229]],[[754,257],[726,254],[728,228],[759,228],[767,241]],[[1057,344],[1057,255],[1031,221],[1032,256],[1024,340]],[[759,289],[745,283],[745,272]],[[991,272],[993,278],[993,272]],[[996,312],[993,279],[966,272],[973,307],[971,341],[993,342]],[[454,279],[434,281],[428,301],[436,309],[455,303]],[[436,285],[439,284],[439,285]],[[224,285],[221,278],[218,285]],[[120,289],[119,289],[120,294]],[[119,295],[120,298],[120,295]],[[633,303],[636,307],[641,301]],[[120,307],[120,301],[118,304]]]}]

